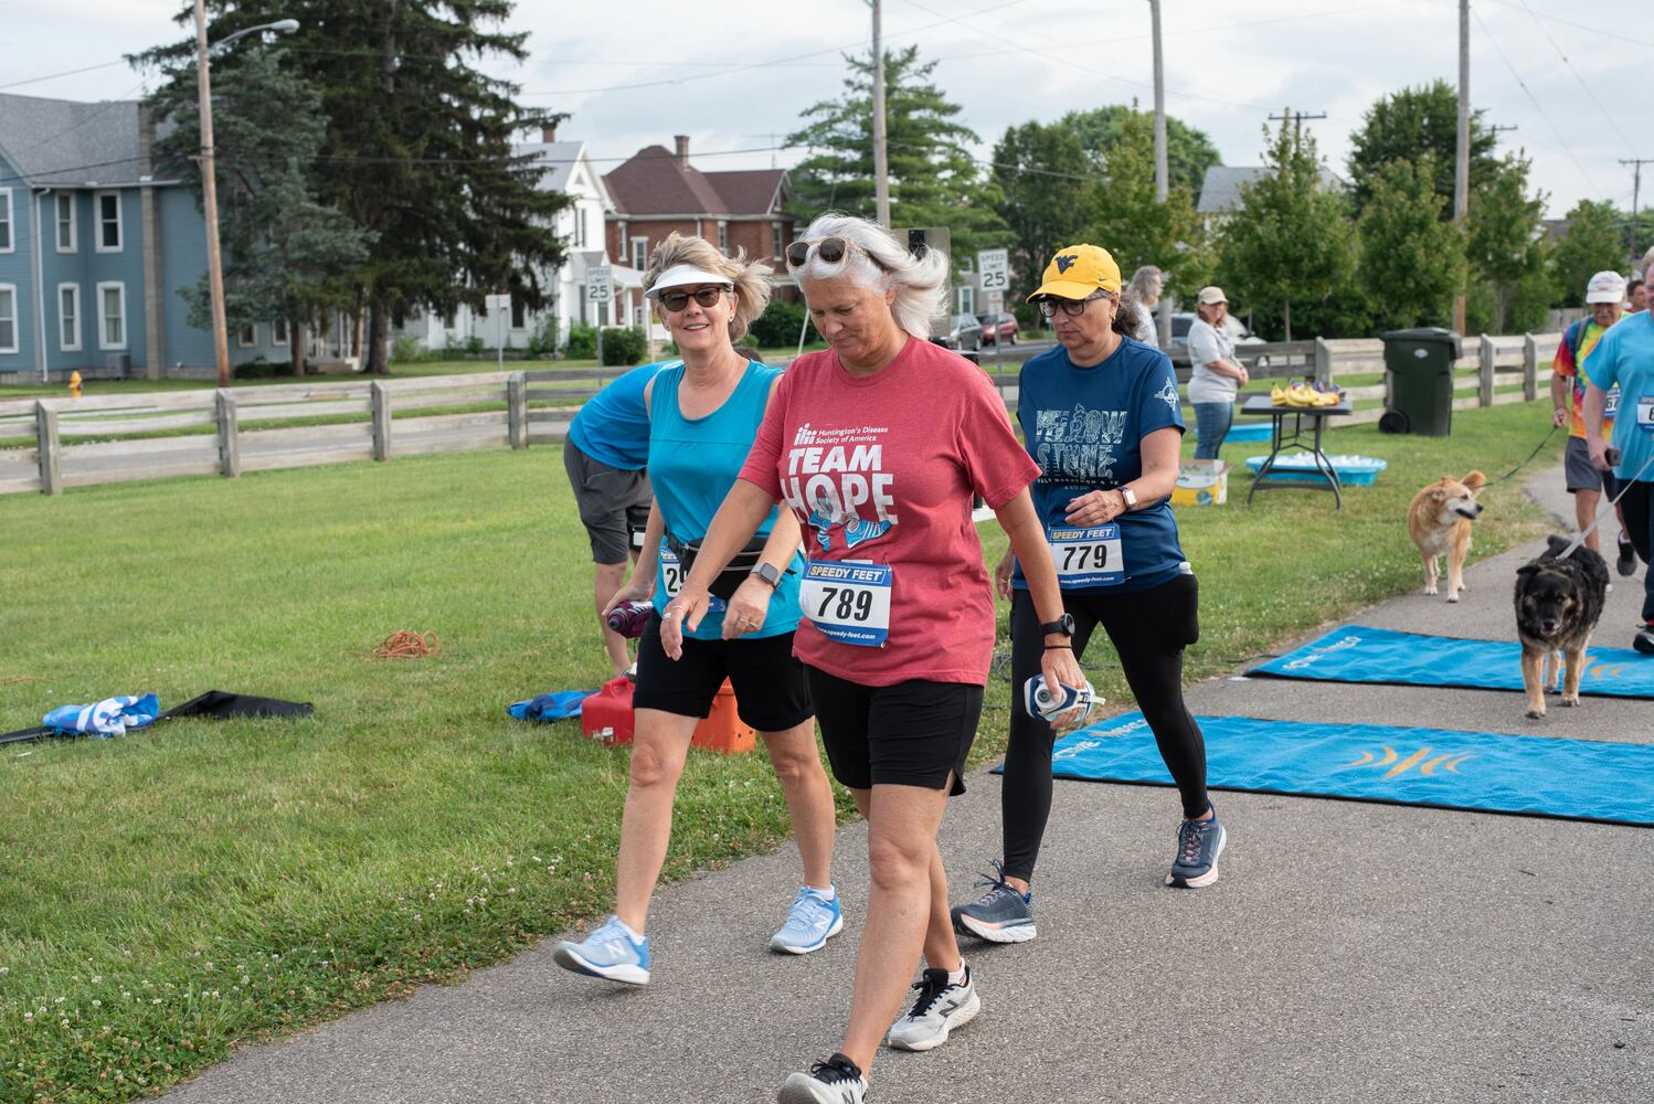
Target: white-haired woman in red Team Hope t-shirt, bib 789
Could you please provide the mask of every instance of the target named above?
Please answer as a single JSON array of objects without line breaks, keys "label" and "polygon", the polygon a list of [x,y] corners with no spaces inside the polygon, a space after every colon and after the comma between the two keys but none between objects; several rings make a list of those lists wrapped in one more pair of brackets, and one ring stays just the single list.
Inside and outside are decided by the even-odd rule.
[{"label": "white-haired woman in red Team Hope t-shirt, bib 789", "polygon": [[[1030,565],[1047,684],[1087,683],[1029,497],[1039,466],[987,377],[926,340],[944,309],[948,258],[913,256],[870,221],[824,215],[789,246],[787,268],[832,347],[782,377],[660,635],[678,654],[683,626],[706,611],[706,583],[786,501],[810,557],[794,651],[834,777],[868,823],[872,887],[844,1043],[787,1078],[781,1101],[860,1104],[882,1038],[931,1049],[981,1006],[936,848],[946,800],[964,792],[994,648],[973,494]],[[920,997],[890,1026],[921,954]]]}]

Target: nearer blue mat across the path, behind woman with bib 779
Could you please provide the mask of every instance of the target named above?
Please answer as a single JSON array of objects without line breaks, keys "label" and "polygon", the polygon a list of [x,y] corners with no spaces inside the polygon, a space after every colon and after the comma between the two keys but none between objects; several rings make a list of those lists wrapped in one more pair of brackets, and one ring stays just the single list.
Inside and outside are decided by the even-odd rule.
[{"label": "nearer blue mat across the path, behind woman with bib 779", "polygon": [[[1497,732],[1199,717],[1214,790],[1654,828],[1654,747]],[[1141,712],[1062,737],[1052,773],[1173,785]]]}]

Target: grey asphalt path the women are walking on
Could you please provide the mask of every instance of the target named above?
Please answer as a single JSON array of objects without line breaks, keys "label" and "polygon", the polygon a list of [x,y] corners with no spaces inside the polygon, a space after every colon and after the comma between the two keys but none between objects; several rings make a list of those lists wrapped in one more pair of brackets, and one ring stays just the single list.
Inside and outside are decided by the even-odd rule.
[{"label": "grey asphalt path the women are walking on", "polygon": [[[1535,486],[1570,512],[1560,471]],[[1513,570],[1537,550],[1479,564],[1459,605],[1416,593],[1360,620],[1512,640]],[[1619,580],[1599,643],[1629,646],[1639,598],[1641,575]],[[1654,742],[1654,706],[1603,697],[1535,722],[1515,692],[1212,679],[1189,704]],[[999,849],[999,780],[981,772],[969,787],[943,828],[954,899]],[[1654,835],[1247,793],[1217,803],[1224,876],[1179,892],[1161,886],[1171,790],[1059,782],[1039,940],[968,949],[982,1015],[930,1054],[882,1053],[872,1101],[1654,1099]],[[167,1099],[772,1101],[842,1030],[865,841],[858,825],[839,833],[850,919],[820,954],[764,952],[796,887],[789,846],[665,889],[645,990],[564,973],[546,944],[248,1049]]]}]

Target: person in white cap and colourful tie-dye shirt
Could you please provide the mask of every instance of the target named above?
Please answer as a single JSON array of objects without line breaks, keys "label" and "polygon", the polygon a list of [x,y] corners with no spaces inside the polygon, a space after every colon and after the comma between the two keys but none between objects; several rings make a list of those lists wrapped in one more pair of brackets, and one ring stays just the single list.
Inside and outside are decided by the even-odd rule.
[{"label": "person in white cap and colourful tie-dye shirt", "polygon": [[[1573,322],[1556,345],[1556,359],[1551,362],[1551,425],[1568,426],[1568,451],[1563,454],[1563,478],[1568,481],[1568,494],[1573,496],[1575,517],[1580,531],[1589,529],[1596,519],[1596,507],[1603,499],[1619,494],[1619,483],[1613,473],[1598,471],[1591,463],[1591,451],[1585,431],[1585,387],[1586,375],[1581,370],[1586,359],[1596,352],[1596,344],[1614,326],[1624,309],[1626,279],[1619,273],[1598,273],[1585,286],[1585,302],[1591,309],[1589,317]],[[1619,410],[1619,388],[1614,388],[1603,410],[1603,440],[1614,433],[1614,415]],[[1619,509],[1616,506],[1616,509]],[[1596,531],[1585,539],[1585,545],[1593,552],[1601,552],[1601,540]],[[1621,575],[1634,575],[1637,570],[1637,554],[1626,535],[1624,512],[1619,516],[1619,555],[1616,569]]]}]

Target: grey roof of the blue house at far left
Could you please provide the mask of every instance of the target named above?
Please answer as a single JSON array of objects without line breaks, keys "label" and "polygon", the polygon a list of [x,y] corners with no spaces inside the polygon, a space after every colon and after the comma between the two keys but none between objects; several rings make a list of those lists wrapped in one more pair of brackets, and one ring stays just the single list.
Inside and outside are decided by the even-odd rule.
[{"label": "grey roof of the blue house at far left", "polygon": [[83,104],[0,93],[0,155],[31,185],[137,183],[136,99]]}]

